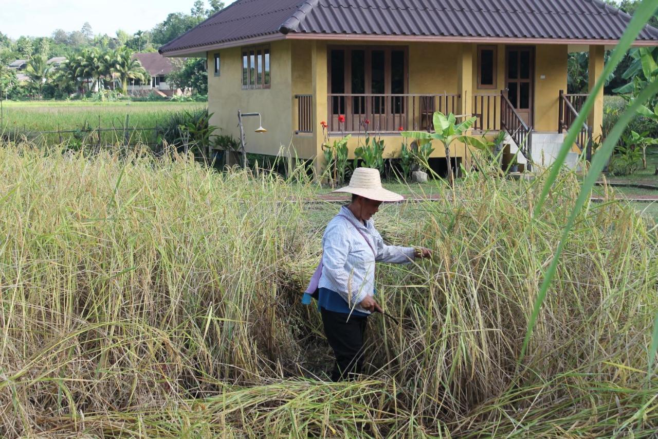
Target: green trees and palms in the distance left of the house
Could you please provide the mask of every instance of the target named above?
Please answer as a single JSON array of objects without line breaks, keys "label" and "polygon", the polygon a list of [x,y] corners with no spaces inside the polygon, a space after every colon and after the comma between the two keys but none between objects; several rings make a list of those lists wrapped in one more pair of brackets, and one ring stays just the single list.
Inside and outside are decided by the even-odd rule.
[{"label": "green trees and palms in the distance left of the house", "polygon": [[[224,2],[195,0],[189,14],[170,13],[150,30],[128,34],[117,30],[116,36],[93,34],[86,22],[79,31],[57,29],[49,37],[20,36],[13,40],[0,32],[0,92],[3,98],[66,98],[113,89],[115,82],[124,94],[131,80],[148,81],[150,76],[132,59],[136,52],[155,52],[201,21],[224,8]],[[48,65],[52,57],[65,57],[55,67]],[[16,59],[28,60],[25,73],[30,82],[20,83],[16,72],[8,68]],[[175,60],[174,71],[167,81],[176,86],[207,94],[205,59]]]}]

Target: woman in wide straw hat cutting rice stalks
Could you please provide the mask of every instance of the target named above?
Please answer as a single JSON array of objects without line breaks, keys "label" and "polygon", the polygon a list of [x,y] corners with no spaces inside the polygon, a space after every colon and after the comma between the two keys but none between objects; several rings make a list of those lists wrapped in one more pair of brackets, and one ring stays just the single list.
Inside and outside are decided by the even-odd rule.
[{"label": "woman in wide straw hat cutting rice stalks", "polygon": [[336,357],[331,378],[340,381],[362,372],[368,315],[384,312],[374,298],[375,262],[405,264],[428,258],[432,252],[384,244],[371,218],[382,202],[400,201],[403,196],[382,187],[378,169],[355,169],[349,186],[334,192],[352,194],[352,201],[324,231],[322,262],[303,303],[311,303],[311,295],[318,300],[324,334]]}]

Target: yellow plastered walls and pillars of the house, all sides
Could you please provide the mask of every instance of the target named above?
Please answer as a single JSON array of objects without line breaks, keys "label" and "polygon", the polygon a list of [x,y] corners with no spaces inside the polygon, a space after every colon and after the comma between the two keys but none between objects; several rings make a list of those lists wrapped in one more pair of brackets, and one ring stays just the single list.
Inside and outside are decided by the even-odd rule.
[{"label": "yellow plastered walls and pillars of the house, all sides", "polygon": [[[209,75],[209,110],[213,114],[211,123],[222,128],[222,134],[239,138],[236,127],[238,109],[243,112],[259,111],[263,115],[265,134],[255,134],[258,121],[244,119],[247,152],[276,155],[281,146],[284,153],[299,158],[321,157],[324,142],[320,121],[327,120],[327,47],[328,45],[366,45],[363,42],[324,42],[288,40],[270,44],[271,87],[269,89],[242,90],[241,48],[234,47],[208,53],[208,63],[213,65],[215,53],[222,59],[220,76]],[[381,45],[381,44],[378,44]],[[461,94],[461,102],[455,113],[474,112],[474,96],[490,96],[490,112],[477,107],[499,120],[500,90],[505,88],[505,45],[497,45],[497,74],[495,88],[477,87],[477,44],[399,44],[409,48],[409,94]],[[534,129],[536,131],[557,130],[559,90],[567,88],[567,45],[536,46]],[[311,134],[295,134],[297,129],[298,103],[296,94],[313,95],[313,130]],[[485,98],[486,99],[486,98]],[[486,100],[485,100],[486,102]],[[479,104],[478,104],[479,105]],[[495,109],[495,110],[494,110]],[[499,125],[499,122],[497,123]],[[383,136],[386,156],[399,151],[402,139],[399,134]],[[292,140],[292,149],[288,149]],[[334,136],[330,142],[336,140]],[[353,151],[363,136],[353,136],[348,146]],[[433,157],[443,157],[440,145],[435,145]],[[463,156],[463,144],[456,144],[453,155]],[[468,155],[468,152],[466,153]]]}]

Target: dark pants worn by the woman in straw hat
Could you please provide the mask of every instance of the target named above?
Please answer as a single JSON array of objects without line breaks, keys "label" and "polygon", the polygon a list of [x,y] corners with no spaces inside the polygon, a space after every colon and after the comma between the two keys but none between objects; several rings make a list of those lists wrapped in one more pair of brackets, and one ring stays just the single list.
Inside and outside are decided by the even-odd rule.
[{"label": "dark pants worn by the woman in straw hat", "polygon": [[[363,357],[367,316],[355,316],[343,314],[342,312],[328,311],[324,308],[322,313],[322,325],[324,335],[329,345],[334,349],[336,363],[332,370],[332,381],[341,381],[348,378],[349,374],[361,374],[363,372]],[[349,320],[348,320],[349,317]]]}]

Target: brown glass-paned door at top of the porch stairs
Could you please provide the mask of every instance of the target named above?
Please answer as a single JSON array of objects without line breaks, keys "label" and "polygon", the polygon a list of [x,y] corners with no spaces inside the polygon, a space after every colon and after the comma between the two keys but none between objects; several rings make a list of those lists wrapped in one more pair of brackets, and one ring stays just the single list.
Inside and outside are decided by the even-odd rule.
[{"label": "brown glass-paned door at top of the porch stairs", "polygon": [[528,127],[534,122],[534,47],[507,47],[507,98]]}]

